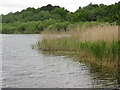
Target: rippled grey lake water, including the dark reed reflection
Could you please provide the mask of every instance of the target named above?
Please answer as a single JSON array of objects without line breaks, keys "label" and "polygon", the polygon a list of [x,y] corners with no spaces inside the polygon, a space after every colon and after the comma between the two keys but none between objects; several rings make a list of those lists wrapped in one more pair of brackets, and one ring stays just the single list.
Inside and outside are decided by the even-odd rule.
[{"label": "rippled grey lake water, including the dark reed reflection", "polygon": [[[0,35],[3,88],[111,88],[118,87],[115,70],[78,62],[68,56],[45,54],[31,45],[37,34]],[[0,57],[0,58],[1,58]],[[1,74],[1,72],[0,72]],[[1,86],[1,84],[0,84]]]}]

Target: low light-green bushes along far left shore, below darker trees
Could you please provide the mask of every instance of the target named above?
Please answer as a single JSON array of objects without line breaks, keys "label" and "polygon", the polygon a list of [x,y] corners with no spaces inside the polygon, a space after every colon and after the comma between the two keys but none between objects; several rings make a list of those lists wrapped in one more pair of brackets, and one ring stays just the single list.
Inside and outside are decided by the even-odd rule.
[{"label": "low light-green bushes along far left shore, below darker trees", "polygon": [[40,33],[41,31],[47,29],[50,25],[58,23],[58,20],[48,19],[44,21],[31,21],[31,22],[13,22],[13,23],[3,23],[2,33],[12,34],[12,33]]}]

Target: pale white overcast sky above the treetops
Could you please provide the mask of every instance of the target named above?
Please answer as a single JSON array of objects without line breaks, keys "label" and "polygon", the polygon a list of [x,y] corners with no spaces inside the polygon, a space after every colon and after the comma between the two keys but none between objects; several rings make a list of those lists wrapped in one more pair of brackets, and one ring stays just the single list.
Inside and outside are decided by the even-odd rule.
[{"label": "pale white overcast sky above the treetops", "polygon": [[93,4],[114,4],[119,0],[0,0],[0,14],[7,14],[9,12],[16,12],[26,9],[27,7],[42,7],[47,4],[59,5],[65,7],[67,10],[74,12],[79,6],[87,6]]}]

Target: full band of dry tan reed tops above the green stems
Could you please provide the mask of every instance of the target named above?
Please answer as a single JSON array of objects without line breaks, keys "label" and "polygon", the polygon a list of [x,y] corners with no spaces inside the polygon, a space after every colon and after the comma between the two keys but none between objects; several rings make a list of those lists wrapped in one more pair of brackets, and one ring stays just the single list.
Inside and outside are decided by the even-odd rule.
[{"label": "full band of dry tan reed tops above the green stems", "polygon": [[105,40],[105,41],[113,41],[118,40],[118,26],[116,25],[98,25],[98,26],[77,26],[75,28],[69,28],[67,32],[50,32],[44,31],[42,32],[42,39],[55,39],[61,37],[72,36],[76,40],[80,41],[97,41],[97,40]]}]

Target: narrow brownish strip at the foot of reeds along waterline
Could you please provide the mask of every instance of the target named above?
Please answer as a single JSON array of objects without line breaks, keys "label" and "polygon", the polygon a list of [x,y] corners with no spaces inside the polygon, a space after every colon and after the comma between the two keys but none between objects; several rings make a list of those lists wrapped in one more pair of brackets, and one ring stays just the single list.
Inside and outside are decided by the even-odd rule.
[{"label": "narrow brownish strip at the foot of reeds along waterline", "polygon": [[108,60],[104,60],[101,61],[99,59],[96,59],[95,57],[91,57],[91,56],[80,56],[80,52],[70,52],[70,51],[50,51],[50,50],[42,50],[42,52],[44,53],[49,53],[52,55],[57,55],[57,56],[68,56],[68,57],[72,57],[75,58],[75,61],[78,62],[86,62],[89,64],[95,64],[98,67],[107,67],[107,68],[117,68],[118,67],[118,60],[116,61],[108,61]]}]

